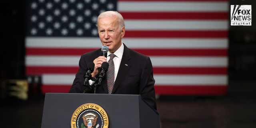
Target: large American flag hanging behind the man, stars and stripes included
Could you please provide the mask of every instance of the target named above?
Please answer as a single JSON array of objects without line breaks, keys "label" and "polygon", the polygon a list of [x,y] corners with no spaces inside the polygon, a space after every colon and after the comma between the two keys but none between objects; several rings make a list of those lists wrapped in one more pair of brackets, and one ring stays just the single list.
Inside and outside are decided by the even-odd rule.
[{"label": "large American flag hanging behind the man, stars and stripes included", "polygon": [[220,95],[228,87],[228,0],[27,0],[26,74],[68,92],[80,56],[102,47],[97,16],[117,10],[124,44],[150,56],[156,94]]}]

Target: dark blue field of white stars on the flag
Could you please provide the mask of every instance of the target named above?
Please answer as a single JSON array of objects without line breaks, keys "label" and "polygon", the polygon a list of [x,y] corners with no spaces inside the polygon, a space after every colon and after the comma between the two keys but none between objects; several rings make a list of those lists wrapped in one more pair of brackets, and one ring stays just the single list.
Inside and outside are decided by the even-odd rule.
[{"label": "dark blue field of white stars on the flag", "polygon": [[27,0],[26,36],[98,36],[97,17],[116,0]]}]

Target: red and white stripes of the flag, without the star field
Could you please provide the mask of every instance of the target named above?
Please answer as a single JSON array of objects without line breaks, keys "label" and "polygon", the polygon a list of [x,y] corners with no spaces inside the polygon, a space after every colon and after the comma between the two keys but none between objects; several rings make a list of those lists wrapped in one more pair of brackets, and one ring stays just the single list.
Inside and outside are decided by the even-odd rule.
[{"label": "red and white stripes of the flag, without the star field", "polygon": [[[228,0],[119,0],[122,41],[150,56],[156,94],[217,95],[228,86]],[[80,56],[99,38],[27,37],[26,73],[42,91],[68,92]]]}]

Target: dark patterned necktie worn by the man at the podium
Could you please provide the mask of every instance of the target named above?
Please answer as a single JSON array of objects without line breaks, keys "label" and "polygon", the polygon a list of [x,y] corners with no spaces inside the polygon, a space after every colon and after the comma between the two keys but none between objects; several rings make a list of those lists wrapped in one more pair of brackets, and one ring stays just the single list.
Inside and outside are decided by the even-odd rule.
[{"label": "dark patterned necktie worn by the man at the podium", "polygon": [[116,57],[115,54],[110,54],[110,59],[108,60],[108,72],[107,72],[107,85],[108,85],[108,94],[112,93],[113,87],[114,87],[114,78],[115,78],[115,65],[113,58]]}]

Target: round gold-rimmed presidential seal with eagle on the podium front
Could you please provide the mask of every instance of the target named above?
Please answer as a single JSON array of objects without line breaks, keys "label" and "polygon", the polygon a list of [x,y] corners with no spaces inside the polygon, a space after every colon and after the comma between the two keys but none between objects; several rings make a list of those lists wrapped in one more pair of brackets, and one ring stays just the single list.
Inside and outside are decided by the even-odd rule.
[{"label": "round gold-rimmed presidential seal with eagle on the podium front", "polygon": [[72,115],[71,128],[108,128],[108,115],[97,104],[83,104]]}]

